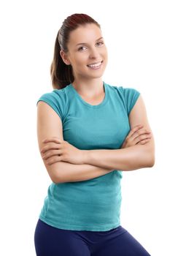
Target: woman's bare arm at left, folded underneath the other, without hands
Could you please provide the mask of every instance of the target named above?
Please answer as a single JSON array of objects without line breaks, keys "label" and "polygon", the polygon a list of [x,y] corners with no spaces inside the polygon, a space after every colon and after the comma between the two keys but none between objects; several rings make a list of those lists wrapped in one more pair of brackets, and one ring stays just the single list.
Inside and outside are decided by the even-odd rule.
[{"label": "woman's bare arm at left, folded underneath the other, without hands", "polygon": [[[61,118],[45,102],[39,102],[37,105],[37,138],[39,151],[41,151],[42,140],[50,137],[57,137],[63,140],[63,127]],[[74,165],[69,162],[55,162],[53,165],[47,165],[43,159],[47,173],[54,183],[86,181],[91,178],[103,176],[112,171],[112,168],[102,168],[94,165],[82,164]]]}]

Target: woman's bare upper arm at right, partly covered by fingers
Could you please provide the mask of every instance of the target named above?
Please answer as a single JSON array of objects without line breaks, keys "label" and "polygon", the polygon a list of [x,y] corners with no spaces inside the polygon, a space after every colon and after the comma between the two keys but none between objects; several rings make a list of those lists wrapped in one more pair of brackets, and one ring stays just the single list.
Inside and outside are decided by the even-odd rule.
[{"label": "woman's bare upper arm at right, partly covered by fingers", "polygon": [[131,129],[135,127],[137,124],[143,124],[144,127],[142,129],[150,130],[151,138],[148,143],[142,145],[145,146],[146,150],[148,150],[148,154],[152,157],[152,165],[155,163],[155,141],[152,134],[152,129],[150,127],[148,118],[147,118],[147,110],[144,105],[144,99],[142,98],[142,95],[140,94],[138,99],[136,100],[136,103],[134,107],[132,108],[131,112],[128,116],[129,124]]}]

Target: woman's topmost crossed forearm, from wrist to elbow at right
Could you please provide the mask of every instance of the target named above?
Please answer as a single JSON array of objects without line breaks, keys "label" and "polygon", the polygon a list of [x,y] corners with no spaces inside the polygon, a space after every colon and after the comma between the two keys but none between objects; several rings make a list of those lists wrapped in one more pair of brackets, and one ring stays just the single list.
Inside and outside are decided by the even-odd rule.
[{"label": "woman's topmost crossed forearm, from wrist to elbow at right", "polygon": [[112,170],[136,170],[152,167],[152,156],[144,145],[120,149],[95,149],[84,151],[84,164]]}]

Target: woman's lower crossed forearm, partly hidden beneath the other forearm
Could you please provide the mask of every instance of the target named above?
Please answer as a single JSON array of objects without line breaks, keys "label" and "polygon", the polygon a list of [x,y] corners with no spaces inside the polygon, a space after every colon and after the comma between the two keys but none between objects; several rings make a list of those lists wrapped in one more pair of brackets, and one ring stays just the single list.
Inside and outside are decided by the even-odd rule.
[{"label": "woman's lower crossed forearm, partly hidden beneath the other forearm", "polygon": [[103,176],[111,171],[112,168],[98,167],[95,165],[73,165],[69,162],[56,163],[57,176],[53,176],[53,182],[74,182],[74,181],[87,181],[98,176]]}]

